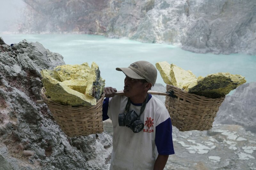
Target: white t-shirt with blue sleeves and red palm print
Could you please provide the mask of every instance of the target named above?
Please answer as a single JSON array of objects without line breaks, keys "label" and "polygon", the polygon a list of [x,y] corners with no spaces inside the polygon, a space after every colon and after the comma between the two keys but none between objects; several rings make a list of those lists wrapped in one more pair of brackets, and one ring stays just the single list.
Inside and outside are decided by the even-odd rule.
[{"label": "white t-shirt with blue sleeves and red palm print", "polygon": [[[103,119],[105,114],[105,119],[109,117],[114,127],[110,169],[153,169],[158,154],[174,154],[169,112],[164,103],[149,95],[146,108],[140,116],[144,128],[134,133],[118,124],[118,114],[124,113],[127,100],[125,96],[114,96],[106,98],[103,103]],[[140,108],[141,104],[131,103],[129,110],[140,114]]]}]

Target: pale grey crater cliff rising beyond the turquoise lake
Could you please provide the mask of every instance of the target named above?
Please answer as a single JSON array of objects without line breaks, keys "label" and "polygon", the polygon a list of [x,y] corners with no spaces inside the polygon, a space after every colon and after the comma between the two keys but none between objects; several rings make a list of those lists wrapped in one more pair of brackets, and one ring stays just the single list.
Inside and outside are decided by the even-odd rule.
[{"label": "pale grey crater cliff rising beyond the turquoise lake", "polygon": [[19,27],[23,33],[78,32],[170,43],[196,53],[256,54],[252,0],[24,2],[28,11]]}]

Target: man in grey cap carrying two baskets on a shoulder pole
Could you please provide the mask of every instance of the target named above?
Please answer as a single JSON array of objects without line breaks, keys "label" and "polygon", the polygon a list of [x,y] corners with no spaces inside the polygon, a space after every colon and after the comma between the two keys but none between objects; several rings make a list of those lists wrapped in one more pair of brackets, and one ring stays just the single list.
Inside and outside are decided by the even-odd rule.
[{"label": "man in grey cap carrying two baskets on a shoulder pole", "polygon": [[115,96],[116,89],[106,87],[103,103],[103,120],[110,118],[114,127],[110,169],[164,169],[174,149],[169,113],[164,103],[148,95],[157,70],[148,61],[116,70],[125,74],[124,96]]}]

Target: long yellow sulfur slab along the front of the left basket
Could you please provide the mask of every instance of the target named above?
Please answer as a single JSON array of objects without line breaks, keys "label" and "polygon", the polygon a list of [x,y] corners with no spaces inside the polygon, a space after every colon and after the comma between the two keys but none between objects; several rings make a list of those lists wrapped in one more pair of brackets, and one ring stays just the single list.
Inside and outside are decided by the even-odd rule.
[{"label": "long yellow sulfur slab along the front of the left basket", "polygon": [[96,99],[90,96],[86,96],[76,90],[69,88],[64,83],[53,79],[49,75],[45,75],[42,83],[46,89],[46,95],[57,103],[63,105],[77,106],[95,106]]}]

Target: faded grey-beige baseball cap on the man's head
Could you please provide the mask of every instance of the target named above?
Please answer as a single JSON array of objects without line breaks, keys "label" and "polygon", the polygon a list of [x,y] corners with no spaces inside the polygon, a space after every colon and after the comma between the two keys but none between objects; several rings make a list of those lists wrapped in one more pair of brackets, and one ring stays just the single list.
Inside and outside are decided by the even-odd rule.
[{"label": "faded grey-beige baseball cap on the man's head", "polygon": [[148,61],[136,61],[129,67],[118,67],[116,70],[124,72],[125,75],[132,79],[145,79],[152,83],[152,85],[156,83],[156,67]]}]

